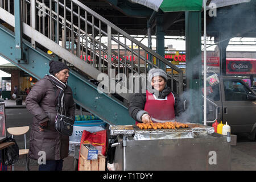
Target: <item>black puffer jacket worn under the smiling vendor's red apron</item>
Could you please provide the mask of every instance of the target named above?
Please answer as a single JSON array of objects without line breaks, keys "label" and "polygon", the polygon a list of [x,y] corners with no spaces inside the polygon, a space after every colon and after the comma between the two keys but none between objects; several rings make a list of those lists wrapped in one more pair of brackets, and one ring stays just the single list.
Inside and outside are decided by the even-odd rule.
[{"label": "black puffer jacket worn under the smiling vendor's red apron", "polygon": [[[162,92],[159,92],[158,98],[165,98],[170,94],[171,89],[169,87],[164,88]],[[175,97],[175,117],[178,117],[184,111],[183,102],[180,100],[180,97],[175,93],[172,92]],[[141,117],[143,114],[147,113],[144,111],[144,105],[146,103],[146,93],[143,94],[134,94],[133,99],[130,102],[129,106],[129,114],[130,116],[135,119],[135,121],[142,122]]]}]

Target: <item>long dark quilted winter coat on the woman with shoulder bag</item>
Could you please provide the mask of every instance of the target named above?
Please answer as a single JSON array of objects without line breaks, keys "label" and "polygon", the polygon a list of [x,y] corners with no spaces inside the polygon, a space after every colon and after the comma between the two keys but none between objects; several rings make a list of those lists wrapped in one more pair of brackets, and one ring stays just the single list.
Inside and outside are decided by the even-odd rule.
[{"label": "long dark quilted winter coat on the woman with shoulder bag", "polygon": [[[75,121],[75,102],[69,86],[64,91],[64,105],[67,116]],[[30,159],[38,160],[46,152],[46,160],[60,160],[68,156],[69,137],[55,130],[55,89],[46,75],[36,82],[26,98],[27,110],[33,115],[30,133]],[[39,124],[48,121],[46,129],[40,131]]]}]

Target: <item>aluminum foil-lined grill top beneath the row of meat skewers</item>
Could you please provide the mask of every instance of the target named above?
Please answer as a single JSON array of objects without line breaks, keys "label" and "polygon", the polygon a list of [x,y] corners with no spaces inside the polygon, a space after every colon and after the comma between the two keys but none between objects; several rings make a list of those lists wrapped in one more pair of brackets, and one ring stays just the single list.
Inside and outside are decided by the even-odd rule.
[{"label": "aluminum foil-lined grill top beneath the row of meat skewers", "polygon": [[186,129],[149,129],[149,130],[141,130],[136,125],[110,125],[110,135],[131,135],[136,133],[200,133],[207,132],[208,134],[214,133],[214,128],[210,126],[204,126],[200,123],[187,123],[188,128]]}]

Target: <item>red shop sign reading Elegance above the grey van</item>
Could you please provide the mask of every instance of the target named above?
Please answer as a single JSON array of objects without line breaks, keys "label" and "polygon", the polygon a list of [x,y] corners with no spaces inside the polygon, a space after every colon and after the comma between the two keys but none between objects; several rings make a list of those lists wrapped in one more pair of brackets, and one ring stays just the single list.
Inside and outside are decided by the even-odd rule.
[{"label": "red shop sign reading Elegance above the grey van", "polygon": [[254,74],[256,74],[256,59],[227,58],[226,59],[226,74],[254,75]]}]

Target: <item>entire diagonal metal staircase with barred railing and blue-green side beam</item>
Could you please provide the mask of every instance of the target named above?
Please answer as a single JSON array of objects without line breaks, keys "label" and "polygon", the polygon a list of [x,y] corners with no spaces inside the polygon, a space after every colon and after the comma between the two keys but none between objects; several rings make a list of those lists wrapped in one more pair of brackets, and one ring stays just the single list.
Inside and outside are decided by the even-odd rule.
[{"label": "entire diagonal metal staircase with barred railing and blue-green side beam", "polygon": [[[146,78],[150,68],[170,68],[171,89],[183,92],[181,69],[79,1],[0,0],[0,19],[1,56],[38,79],[48,73],[49,60],[64,61],[76,103],[108,123],[134,123],[126,106],[136,90],[134,80]],[[92,78],[107,78],[105,93]],[[126,91],[115,92],[117,86]]]}]

